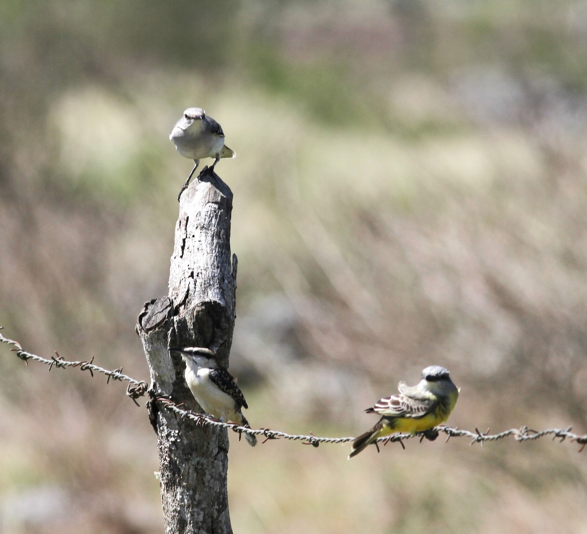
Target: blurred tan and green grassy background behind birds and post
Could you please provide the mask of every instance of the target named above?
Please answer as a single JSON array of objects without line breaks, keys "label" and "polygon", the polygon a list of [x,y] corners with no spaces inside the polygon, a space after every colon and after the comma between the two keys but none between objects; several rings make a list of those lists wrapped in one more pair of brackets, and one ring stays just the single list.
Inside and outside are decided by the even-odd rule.
[{"label": "blurred tan and green grassy background behind birds and post", "polygon": [[[148,379],[201,106],[254,427],[358,435],[439,364],[453,426],[587,431],[586,1],[4,0],[0,43],[5,336]],[[163,532],[126,386],[0,353],[0,530]],[[230,439],[235,532],[587,532],[577,444]]]}]

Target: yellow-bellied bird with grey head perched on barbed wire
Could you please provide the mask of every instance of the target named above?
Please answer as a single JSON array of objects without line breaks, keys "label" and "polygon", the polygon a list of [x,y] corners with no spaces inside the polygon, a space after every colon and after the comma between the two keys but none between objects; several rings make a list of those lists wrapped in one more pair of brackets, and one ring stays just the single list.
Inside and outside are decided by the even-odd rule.
[{"label": "yellow-bellied bird with grey head perched on barbed wire", "polygon": [[416,386],[401,381],[397,388],[399,394],[384,397],[365,410],[382,417],[371,430],[353,441],[349,459],[379,437],[394,432],[414,435],[444,423],[453,411],[460,391],[450,379],[448,370],[436,365],[422,371],[422,378]]}]

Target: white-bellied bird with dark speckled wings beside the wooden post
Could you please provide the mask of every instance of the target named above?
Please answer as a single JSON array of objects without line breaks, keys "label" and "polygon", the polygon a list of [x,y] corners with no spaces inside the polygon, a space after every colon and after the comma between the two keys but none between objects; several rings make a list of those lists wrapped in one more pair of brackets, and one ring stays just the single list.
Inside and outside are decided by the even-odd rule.
[{"label": "white-bellied bird with dark speckled wings beside the wooden post", "polygon": [[[207,414],[223,423],[232,421],[241,427],[251,427],[241,411],[248,408],[245,396],[228,369],[218,363],[213,351],[203,347],[170,347],[169,350],[181,354],[185,361],[185,382]],[[245,438],[251,447],[257,445],[254,434],[245,432]]]}]

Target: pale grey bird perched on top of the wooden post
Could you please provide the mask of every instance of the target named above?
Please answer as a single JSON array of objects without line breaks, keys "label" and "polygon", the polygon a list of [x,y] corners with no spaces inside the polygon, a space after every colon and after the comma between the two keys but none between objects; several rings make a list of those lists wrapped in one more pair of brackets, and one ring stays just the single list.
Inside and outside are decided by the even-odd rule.
[{"label": "pale grey bird perched on top of the wooden post", "polygon": [[190,184],[190,179],[200,164],[201,158],[214,158],[214,163],[210,167],[210,170],[214,171],[220,158],[237,156],[234,150],[224,144],[224,131],[220,124],[212,117],[208,117],[201,107],[188,107],[171,130],[169,138],[176,145],[176,150],[181,156],[194,160],[194,168],[185,180],[180,194],[177,195],[177,200]]}]

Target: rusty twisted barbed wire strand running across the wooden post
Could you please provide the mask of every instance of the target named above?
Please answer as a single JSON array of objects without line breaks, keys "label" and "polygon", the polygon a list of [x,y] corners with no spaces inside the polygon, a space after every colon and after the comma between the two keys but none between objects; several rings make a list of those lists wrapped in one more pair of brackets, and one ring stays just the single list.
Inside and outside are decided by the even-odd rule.
[{"label": "rusty twisted barbed wire strand running across the wooden post", "polygon": [[[0,329],[2,327],[0,326]],[[94,376],[93,371],[97,373],[102,373],[108,377],[106,383],[109,383],[110,378],[113,380],[120,380],[120,381],[127,381],[130,385],[127,387],[126,394],[129,396],[134,403],[138,406],[137,398],[143,396],[147,392],[147,388],[149,387],[146,381],[144,380],[135,380],[127,376],[126,374],[122,373],[122,367],[119,369],[115,369],[113,371],[109,371],[107,369],[103,369],[103,367],[97,366],[93,363],[94,357],[89,361],[66,361],[62,357],[59,356],[59,353],[55,351],[56,357],[52,356],[51,359],[46,359],[41,356],[37,356],[36,354],[32,354],[27,352],[21,347],[21,344],[4,337],[0,333],[0,342],[6,343],[9,345],[14,346],[13,350],[16,352],[16,356],[18,356],[21,360],[25,361],[28,365],[28,360],[39,361],[40,363],[46,364],[49,366],[49,371],[53,369],[53,367],[79,367],[82,371],[90,371],[92,377]],[[321,443],[328,443],[328,444],[335,444],[335,443],[347,443],[350,441],[354,441],[356,438],[354,437],[342,437],[342,438],[328,438],[328,437],[318,437],[314,434],[288,434],[287,432],[282,432],[278,430],[271,430],[270,428],[249,428],[249,427],[241,427],[234,423],[224,423],[219,421],[208,414],[203,413],[195,413],[190,410],[184,410],[181,407],[181,404],[174,403],[170,398],[157,395],[153,392],[150,392],[151,401],[155,401],[160,404],[166,410],[173,411],[176,415],[179,415],[181,418],[188,418],[190,420],[195,421],[195,423],[200,424],[202,426],[210,426],[210,427],[220,427],[220,428],[227,428],[239,434],[239,438],[241,434],[251,434],[257,435],[259,437],[264,437],[265,443],[268,440],[292,440],[292,441],[302,441],[305,445],[313,445],[313,447],[318,447]],[[386,445],[389,442],[400,442],[403,448],[405,448],[403,441],[410,440],[412,438],[417,438],[420,442],[426,438],[427,440],[434,441],[440,434],[440,432],[447,435],[446,441],[450,440],[451,437],[468,437],[471,439],[470,445],[475,443],[480,443],[481,447],[485,441],[497,441],[507,437],[514,437],[516,441],[525,442],[525,441],[534,441],[538,440],[539,438],[545,437],[547,435],[552,435],[552,440],[556,440],[558,438],[559,442],[563,442],[565,440],[569,440],[571,442],[576,442],[581,445],[579,448],[579,452],[582,452],[585,446],[587,445],[587,434],[575,434],[572,432],[572,427],[567,428],[548,428],[546,430],[532,430],[526,426],[521,428],[510,428],[510,430],[505,430],[503,432],[498,432],[497,434],[490,434],[490,429],[487,429],[485,432],[481,432],[478,428],[475,428],[475,432],[471,432],[468,430],[461,430],[460,428],[453,428],[449,427],[448,425],[440,425],[438,427],[432,428],[428,431],[419,432],[416,435],[411,434],[404,434],[404,433],[397,433],[391,434],[389,436],[380,437],[376,440],[377,443],[382,443]],[[377,450],[379,447],[377,446]]]}]

